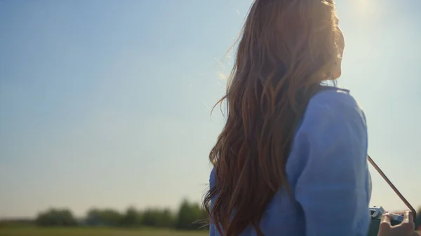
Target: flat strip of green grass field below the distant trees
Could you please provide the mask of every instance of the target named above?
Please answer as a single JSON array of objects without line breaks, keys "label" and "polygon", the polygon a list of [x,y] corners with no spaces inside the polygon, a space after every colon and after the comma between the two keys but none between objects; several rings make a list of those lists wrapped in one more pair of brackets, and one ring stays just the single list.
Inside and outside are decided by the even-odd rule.
[{"label": "flat strip of green grass field below the distant trees", "polygon": [[111,228],[0,228],[0,236],[206,236],[207,231],[183,232]]}]

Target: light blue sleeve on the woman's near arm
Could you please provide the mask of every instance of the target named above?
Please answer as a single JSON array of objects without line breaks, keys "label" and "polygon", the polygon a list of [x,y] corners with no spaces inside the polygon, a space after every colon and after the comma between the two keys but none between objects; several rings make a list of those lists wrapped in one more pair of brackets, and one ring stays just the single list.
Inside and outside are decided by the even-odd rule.
[{"label": "light blue sleeve on the woman's near arm", "polygon": [[306,235],[366,236],[366,120],[351,95],[314,97],[295,145],[302,167],[294,191],[305,215]]}]

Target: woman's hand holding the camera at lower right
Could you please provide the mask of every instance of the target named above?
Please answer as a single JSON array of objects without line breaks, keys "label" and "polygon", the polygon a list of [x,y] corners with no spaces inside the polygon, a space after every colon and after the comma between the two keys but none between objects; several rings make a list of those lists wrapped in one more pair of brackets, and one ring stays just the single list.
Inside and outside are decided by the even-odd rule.
[{"label": "woman's hand holding the camera at lower right", "polygon": [[391,217],[389,211],[383,214],[377,236],[420,236],[414,231],[415,223],[412,212],[405,211],[403,221],[399,225],[392,226],[390,223]]}]

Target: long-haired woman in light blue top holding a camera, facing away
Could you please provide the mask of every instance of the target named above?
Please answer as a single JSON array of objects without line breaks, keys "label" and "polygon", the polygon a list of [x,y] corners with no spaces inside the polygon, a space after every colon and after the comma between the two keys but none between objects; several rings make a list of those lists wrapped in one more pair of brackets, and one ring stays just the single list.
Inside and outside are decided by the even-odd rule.
[{"label": "long-haired woman in light blue top holding a camera, facing away", "polygon": [[321,85],[340,77],[344,45],[333,0],[254,1],[210,152],[211,236],[367,235],[366,118]]}]

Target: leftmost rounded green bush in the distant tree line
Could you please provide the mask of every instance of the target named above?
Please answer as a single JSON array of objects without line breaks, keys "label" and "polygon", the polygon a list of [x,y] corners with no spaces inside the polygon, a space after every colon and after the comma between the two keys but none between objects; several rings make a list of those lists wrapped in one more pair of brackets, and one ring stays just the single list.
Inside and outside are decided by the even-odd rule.
[{"label": "leftmost rounded green bush in the distant tree line", "polygon": [[40,226],[74,226],[76,219],[68,209],[49,209],[41,212],[35,220]]}]

